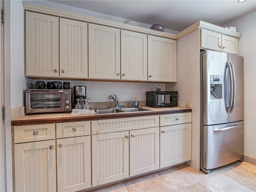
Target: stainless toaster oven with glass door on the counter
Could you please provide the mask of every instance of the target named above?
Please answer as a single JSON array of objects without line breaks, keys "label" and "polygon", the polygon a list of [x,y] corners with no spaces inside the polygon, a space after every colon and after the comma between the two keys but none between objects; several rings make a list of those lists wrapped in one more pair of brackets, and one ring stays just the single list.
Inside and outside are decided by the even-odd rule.
[{"label": "stainless toaster oven with glass door on the counter", "polygon": [[26,113],[70,112],[71,90],[26,89]]}]

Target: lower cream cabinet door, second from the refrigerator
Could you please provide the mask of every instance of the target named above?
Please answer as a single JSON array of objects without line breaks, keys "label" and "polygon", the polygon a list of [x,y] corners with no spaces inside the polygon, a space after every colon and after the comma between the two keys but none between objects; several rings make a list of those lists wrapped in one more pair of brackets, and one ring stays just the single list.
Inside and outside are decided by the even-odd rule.
[{"label": "lower cream cabinet door, second from the refrigerator", "polygon": [[130,131],[130,176],[159,169],[159,127]]}]

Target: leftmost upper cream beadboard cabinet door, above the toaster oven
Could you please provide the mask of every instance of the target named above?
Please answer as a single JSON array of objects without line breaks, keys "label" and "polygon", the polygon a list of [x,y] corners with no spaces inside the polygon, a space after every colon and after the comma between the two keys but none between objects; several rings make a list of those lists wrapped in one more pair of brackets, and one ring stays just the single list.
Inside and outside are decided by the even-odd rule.
[{"label": "leftmost upper cream beadboard cabinet door, above the toaster oven", "polygon": [[59,18],[26,11],[26,75],[59,76]]}]

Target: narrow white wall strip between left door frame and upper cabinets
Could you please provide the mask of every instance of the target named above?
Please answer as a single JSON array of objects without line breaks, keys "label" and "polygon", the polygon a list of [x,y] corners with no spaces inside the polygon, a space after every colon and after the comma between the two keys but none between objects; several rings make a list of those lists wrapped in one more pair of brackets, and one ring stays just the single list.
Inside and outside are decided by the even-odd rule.
[{"label": "narrow white wall strip between left door frame and upper cabinets", "polygon": [[11,108],[24,106],[24,10],[21,1],[10,1]]}]

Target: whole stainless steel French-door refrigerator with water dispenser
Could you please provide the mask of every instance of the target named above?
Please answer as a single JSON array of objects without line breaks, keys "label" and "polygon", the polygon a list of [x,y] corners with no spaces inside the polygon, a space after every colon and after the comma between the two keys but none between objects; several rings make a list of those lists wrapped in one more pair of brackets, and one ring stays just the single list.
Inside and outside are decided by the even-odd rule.
[{"label": "whole stainless steel French-door refrigerator with water dispenser", "polygon": [[242,160],[244,152],[244,58],[201,52],[201,169]]}]

